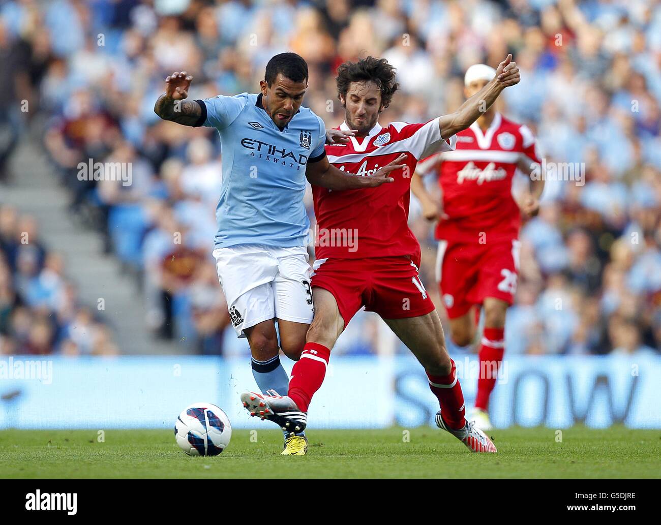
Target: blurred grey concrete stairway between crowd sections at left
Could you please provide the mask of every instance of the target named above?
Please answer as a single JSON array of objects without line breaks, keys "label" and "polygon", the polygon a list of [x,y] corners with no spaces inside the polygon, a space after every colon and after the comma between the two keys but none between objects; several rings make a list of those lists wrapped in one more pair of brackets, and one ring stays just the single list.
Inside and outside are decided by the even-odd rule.
[{"label": "blurred grey concrete stairway between crowd sections at left", "polygon": [[63,257],[65,274],[77,285],[83,304],[96,310],[98,298],[104,299],[105,310],[95,313],[108,323],[122,353],[193,353],[186,341],[161,341],[149,333],[136,278],[114,256],[103,254],[97,232],[71,219],[71,195],[59,184],[34,138],[24,137],[13,153],[11,172],[15,176],[1,188],[0,203],[34,216],[40,240]]}]

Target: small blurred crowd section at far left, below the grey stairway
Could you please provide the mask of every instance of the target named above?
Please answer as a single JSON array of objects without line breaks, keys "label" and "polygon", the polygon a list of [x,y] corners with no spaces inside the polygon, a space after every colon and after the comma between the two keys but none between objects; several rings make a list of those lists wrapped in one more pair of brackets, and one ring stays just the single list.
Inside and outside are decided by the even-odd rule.
[{"label": "small blurred crowd section at far left, below the grey stairway", "polygon": [[33,217],[0,206],[0,355],[113,355],[108,326],[80,304]]}]

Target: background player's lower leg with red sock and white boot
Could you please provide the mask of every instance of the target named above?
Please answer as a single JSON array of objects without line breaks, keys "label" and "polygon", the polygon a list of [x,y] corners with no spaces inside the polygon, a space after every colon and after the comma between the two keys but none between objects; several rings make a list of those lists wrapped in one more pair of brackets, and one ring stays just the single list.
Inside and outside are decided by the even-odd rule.
[{"label": "background player's lower leg with red sock and white boot", "polygon": [[485,328],[479,350],[480,375],[477,380],[473,417],[477,425],[485,431],[491,429],[488,405],[505,350],[504,328],[508,306],[506,301],[495,297],[486,297],[484,300]]}]

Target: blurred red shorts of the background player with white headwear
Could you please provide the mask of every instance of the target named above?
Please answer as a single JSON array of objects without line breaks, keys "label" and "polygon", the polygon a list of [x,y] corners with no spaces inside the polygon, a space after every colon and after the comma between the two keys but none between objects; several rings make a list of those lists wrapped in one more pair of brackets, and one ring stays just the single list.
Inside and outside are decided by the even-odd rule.
[{"label": "blurred red shorts of the background player with white headwear", "polygon": [[438,242],[436,281],[450,319],[463,316],[485,297],[514,302],[520,245],[516,239],[488,244]]}]

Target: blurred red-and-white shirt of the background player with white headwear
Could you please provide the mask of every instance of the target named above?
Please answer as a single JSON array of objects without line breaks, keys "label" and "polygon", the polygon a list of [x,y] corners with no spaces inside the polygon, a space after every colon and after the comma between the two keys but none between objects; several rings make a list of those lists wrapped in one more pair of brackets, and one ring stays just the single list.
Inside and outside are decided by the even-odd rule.
[{"label": "blurred red-and-white shirt of the background player with white headwear", "polygon": [[418,170],[438,170],[443,211],[436,238],[453,241],[517,238],[520,209],[512,197],[512,178],[519,162],[541,163],[535,137],[525,126],[496,113],[485,133],[477,122],[457,133],[455,151],[422,160]]}]

